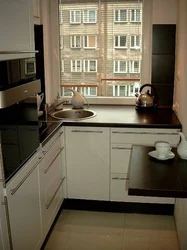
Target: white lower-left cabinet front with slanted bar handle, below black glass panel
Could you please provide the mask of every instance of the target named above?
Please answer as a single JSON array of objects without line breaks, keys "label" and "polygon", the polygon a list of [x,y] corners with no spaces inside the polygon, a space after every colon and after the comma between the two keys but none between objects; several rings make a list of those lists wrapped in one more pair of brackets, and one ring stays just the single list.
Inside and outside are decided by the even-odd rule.
[{"label": "white lower-left cabinet front with slanted bar handle, below black glass panel", "polygon": [[7,186],[14,250],[40,249],[42,240],[37,155]]}]

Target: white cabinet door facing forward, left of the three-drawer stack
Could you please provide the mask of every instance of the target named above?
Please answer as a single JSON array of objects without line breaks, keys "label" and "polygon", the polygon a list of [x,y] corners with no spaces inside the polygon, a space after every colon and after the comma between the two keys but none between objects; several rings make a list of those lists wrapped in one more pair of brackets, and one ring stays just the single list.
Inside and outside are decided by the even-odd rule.
[{"label": "white cabinet door facing forward, left of the three-drawer stack", "polygon": [[109,128],[66,127],[68,198],[109,200]]}]

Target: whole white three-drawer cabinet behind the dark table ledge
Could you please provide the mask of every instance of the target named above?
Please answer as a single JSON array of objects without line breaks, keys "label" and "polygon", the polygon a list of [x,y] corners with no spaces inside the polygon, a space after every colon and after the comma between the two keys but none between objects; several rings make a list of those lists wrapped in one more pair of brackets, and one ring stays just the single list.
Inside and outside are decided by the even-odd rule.
[{"label": "whole white three-drawer cabinet behind the dark table ledge", "polygon": [[111,128],[110,200],[174,204],[174,198],[128,195],[129,161],[132,145],[154,146],[155,141],[179,142],[178,129]]}]

